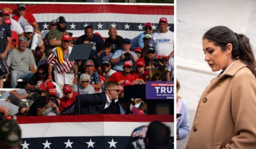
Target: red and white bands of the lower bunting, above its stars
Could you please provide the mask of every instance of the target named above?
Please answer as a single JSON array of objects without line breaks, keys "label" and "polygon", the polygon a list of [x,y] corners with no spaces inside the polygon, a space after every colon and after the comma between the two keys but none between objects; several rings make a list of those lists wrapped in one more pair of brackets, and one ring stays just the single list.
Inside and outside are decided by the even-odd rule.
[{"label": "red and white bands of the lower bunting, above its stars", "polygon": [[65,136],[131,136],[132,131],[158,120],[171,128],[174,136],[173,115],[71,115],[17,117],[22,138]]}]

